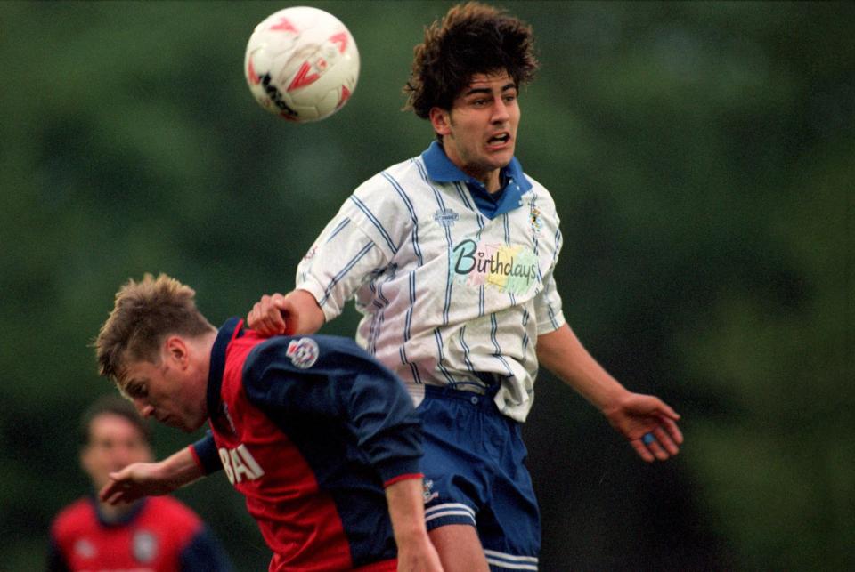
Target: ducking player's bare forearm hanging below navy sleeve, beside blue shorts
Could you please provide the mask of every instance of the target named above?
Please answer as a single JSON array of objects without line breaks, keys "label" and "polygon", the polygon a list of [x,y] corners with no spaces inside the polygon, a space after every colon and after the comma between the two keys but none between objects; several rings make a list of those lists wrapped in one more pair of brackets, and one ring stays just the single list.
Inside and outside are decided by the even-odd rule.
[{"label": "ducking player's bare forearm hanging below navy sleeve, beside blue shorts", "polygon": [[425,527],[422,479],[403,479],[389,485],[386,500],[398,546],[399,572],[442,572]]}]

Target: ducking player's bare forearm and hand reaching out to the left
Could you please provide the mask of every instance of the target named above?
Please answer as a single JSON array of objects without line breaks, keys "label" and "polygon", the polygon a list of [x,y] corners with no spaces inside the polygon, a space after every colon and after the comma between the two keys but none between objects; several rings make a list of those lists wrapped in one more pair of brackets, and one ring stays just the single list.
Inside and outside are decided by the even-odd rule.
[{"label": "ducking player's bare forearm and hand reaching out to the left", "polygon": [[204,476],[190,447],[184,447],[158,463],[133,463],[111,472],[99,496],[109,504],[132,503],[142,496],[168,495]]}]

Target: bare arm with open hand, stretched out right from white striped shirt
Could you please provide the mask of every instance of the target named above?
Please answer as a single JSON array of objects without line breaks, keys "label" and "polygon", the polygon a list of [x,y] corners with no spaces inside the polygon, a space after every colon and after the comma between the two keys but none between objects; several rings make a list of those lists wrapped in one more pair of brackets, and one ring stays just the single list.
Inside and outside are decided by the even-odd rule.
[{"label": "bare arm with open hand, stretched out right from white striped shirt", "polygon": [[538,336],[537,358],[606,415],[648,463],[680,451],[683,435],[676,423],[680,415],[661,399],[624,388],[582,347],[570,326]]}]

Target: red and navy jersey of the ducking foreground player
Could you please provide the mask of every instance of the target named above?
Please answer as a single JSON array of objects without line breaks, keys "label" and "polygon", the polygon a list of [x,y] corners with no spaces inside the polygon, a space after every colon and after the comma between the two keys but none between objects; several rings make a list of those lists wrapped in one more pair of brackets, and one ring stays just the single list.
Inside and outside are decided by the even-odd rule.
[{"label": "red and navy jersey of the ducking foreground player", "polygon": [[232,318],[211,353],[213,442],[193,446],[246,497],[271,570],[395,570],[384,487],[420,477],[403,383],[353,341],[262,338]]}]

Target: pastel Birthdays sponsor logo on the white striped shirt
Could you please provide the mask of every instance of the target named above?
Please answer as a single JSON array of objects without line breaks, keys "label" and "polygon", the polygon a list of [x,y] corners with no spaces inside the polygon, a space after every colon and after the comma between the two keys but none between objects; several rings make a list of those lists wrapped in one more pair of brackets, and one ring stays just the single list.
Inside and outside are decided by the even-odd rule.
[{"label": "pastel Birthdays sponsor logo on the white striped shirt", "polygon": [[452,248],[449,272],[458,284],[492,286],[525,294],[537,282],[537,256],[525,246],[495,245],[471,238]]}]

